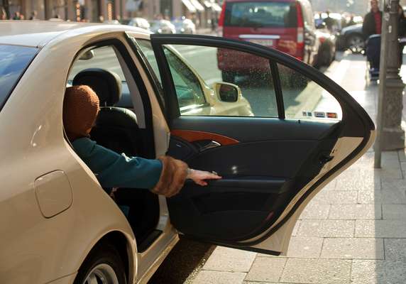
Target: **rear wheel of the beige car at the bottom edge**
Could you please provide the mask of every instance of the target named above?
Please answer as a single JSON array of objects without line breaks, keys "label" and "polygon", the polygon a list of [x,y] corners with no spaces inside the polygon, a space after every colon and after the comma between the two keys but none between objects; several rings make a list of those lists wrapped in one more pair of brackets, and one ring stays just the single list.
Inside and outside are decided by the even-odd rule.
[{"label": "rear wheel of the beige car at the bottom edge", "polygon": [[[104,278],[104,282],[101,281]],[[93,281],[93,282],[92,282]],[[103,242],[90,251],[79,268],[74,284],[88,283],[126,284],[126,272],[119,252]]]}]

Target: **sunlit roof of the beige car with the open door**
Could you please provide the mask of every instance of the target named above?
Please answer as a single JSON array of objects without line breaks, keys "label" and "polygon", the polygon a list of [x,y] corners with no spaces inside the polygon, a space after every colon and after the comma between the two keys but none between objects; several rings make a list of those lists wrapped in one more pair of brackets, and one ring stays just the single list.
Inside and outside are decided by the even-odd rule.
[{"label": "sunlit roof of the beige car with the open door", "polygon": [[77,30],[80,33],[89,31],[139,31],[140,28],[103,23],[79,23],[67,21],[0,21],[0,44],[43,47],[50,40],[62,33]]}]

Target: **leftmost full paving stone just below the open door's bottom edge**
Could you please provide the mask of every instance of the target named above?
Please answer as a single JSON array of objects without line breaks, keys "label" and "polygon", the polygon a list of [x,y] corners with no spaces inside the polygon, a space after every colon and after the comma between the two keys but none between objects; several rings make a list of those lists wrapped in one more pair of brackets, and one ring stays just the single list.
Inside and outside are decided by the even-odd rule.
[{"label": "leftmost full paving stone just below the open door's bottom edge", "polygon": [[209,271],[248,272],[256,253],[217,246],[204,264],[203,269]]}]

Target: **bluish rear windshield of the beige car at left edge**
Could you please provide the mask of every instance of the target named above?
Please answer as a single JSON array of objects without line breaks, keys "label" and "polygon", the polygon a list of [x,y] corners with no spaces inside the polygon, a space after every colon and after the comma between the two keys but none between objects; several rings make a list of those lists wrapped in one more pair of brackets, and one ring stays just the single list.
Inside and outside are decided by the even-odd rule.
[{"label": "bluish rear windshield of the beige car at left edge", "polygon": [[0,45],[0,109],[37,51],[26,46]]}]

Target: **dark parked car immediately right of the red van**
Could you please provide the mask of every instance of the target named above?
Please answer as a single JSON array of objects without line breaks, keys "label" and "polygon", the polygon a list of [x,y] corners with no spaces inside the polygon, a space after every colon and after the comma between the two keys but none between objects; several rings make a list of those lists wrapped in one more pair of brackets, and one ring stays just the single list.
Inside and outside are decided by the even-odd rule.
[{"label": "dark parked car immediately right of the red van", "polygon": [[337,37],[327,29],[316,31],[317,39],[320,41],[319,52],[315,67],[329,66],[336,59]]}]

